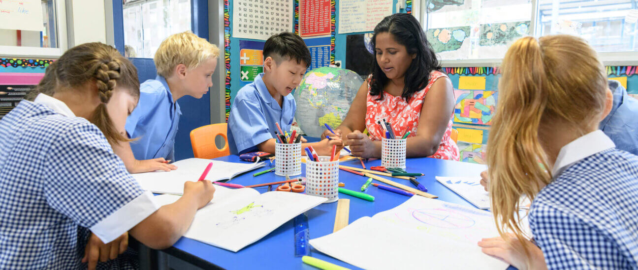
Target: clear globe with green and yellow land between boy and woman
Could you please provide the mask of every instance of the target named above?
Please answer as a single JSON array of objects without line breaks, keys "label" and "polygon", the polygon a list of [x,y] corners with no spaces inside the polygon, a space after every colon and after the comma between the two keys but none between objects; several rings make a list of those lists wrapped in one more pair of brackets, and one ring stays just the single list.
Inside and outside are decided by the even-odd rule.
[{"label": "clear globe with green and yellow land between boy and woman", "polygon": [[308,71],[293,94],[299,128],[311,137],[321,136],[323,124],[336,128],[346,117],[362,83],[362,78],[348,69],[323,67]]}]

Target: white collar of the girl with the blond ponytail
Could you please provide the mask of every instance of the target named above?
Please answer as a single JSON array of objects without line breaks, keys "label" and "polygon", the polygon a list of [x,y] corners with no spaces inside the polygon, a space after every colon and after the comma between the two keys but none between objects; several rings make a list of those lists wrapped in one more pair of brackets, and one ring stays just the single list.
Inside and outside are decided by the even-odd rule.
[{"label": "white collar of the girl with the blond ponytail", "polygon": [[564,169],[567,169],[568,166],[579,160],[615,147],[614,142],[600,130],[585,134],[560,149],[558,157],[556,157],[556,163],[554,163],[552,169],[552,175],[556,177],[562,173]]}]

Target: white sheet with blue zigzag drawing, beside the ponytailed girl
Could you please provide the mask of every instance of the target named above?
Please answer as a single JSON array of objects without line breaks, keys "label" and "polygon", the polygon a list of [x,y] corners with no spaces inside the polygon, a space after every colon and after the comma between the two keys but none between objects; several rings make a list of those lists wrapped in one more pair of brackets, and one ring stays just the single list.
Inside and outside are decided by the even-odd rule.
[{"label": "white sheet with blue zigzag drawing, beside the ponytailed girl", "polygon": [[441,177],[436,176],[445,187],[480,209],[489,209],[489,193],[480,185],[480,177]]}]

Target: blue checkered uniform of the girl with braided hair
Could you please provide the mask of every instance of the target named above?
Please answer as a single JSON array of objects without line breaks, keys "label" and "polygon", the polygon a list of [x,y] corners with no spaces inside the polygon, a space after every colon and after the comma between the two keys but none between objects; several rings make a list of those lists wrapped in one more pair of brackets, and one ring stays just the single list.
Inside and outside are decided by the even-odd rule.
[{"label": "blue checkered uniform of the girl with braided hair", "polygon": [[22,101],[0,138],[0,269],[85,267],[86,228],[142,189],[84,118]]}]

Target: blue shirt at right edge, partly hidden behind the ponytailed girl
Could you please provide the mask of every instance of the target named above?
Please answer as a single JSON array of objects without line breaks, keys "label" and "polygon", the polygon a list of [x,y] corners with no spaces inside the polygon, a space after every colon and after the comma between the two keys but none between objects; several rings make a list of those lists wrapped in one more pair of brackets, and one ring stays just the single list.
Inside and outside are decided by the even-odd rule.
[{"label": "blue shirt at right edge, partly hidden behind the ponytailed girl", "polygon": [[616,148],[638,155],[638,100],[627,95],[618,81],[609,80],[614,106],[598,126],[616,144]]}]

